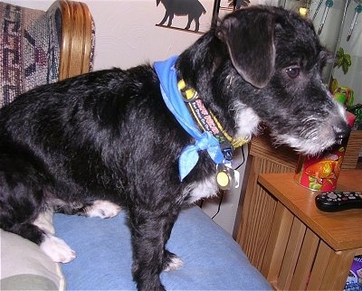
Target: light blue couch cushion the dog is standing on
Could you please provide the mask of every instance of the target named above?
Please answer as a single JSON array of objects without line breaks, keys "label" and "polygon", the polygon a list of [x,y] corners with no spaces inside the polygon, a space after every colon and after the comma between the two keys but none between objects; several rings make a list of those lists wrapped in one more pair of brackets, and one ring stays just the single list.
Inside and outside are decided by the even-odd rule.
[{"label": "light blue couch cushion the dog is standing on", "polygon": [[[125,212],[108,220],[56,214],[53,222],[57,236],[77,252],[62,265],[67,289],[136,289]],[[181,212],[167,249],[184,260],[161,274],[167,290],[271,290],[239,245],[196,206]]]}]

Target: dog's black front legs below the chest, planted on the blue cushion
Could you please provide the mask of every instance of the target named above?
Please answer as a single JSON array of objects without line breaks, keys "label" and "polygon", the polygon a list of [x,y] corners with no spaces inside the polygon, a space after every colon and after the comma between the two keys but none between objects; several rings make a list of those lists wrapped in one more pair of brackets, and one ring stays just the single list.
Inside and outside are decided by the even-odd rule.
[{"label": "dog's black front legs below the chest, planted on the blue cushion", "polygon": [[165,290],[159,274],[182,265],[181,259],[165,248],[178,210],[129,211],[132,233],[132,273],[138,290]]}]

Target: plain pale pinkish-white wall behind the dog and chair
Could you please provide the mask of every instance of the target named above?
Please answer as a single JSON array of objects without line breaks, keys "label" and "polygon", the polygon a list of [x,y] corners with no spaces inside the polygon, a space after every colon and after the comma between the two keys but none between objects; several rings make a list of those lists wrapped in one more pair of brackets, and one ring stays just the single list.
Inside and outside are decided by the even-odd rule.
[{"label": "plain pale pinkish-white wall behind the dog and chair", "polygon": [[[53,0],[5,0],[7,3],[46,10]],[[183,52],[200,37],[198,33],[156,26],[164,14],[156,0],[83,0],[96,23],[94,69],[127,69],[145,61],[164,60]],[[212,0],[202,1],[206,14],[200,17],[200,31],[210,26]],[[184,28],[186,16],[176,16],[173,25]],[[191,26],[193,28],[194,26]]]}]

